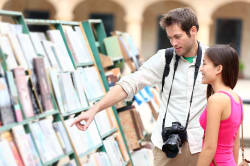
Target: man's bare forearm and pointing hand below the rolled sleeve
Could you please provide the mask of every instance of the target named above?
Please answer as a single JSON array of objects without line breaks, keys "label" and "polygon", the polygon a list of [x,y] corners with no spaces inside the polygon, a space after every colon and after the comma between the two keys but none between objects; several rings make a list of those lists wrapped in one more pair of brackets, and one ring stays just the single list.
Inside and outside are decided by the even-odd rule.
[{"label": "man's bare forearm and pointing hand below the rolled sleeve", "polygon": [[[97,112],[113,106],[114,104],[124,100],[127,96],[127,93],[120,85],[114,86],[108,91],[102,100],[91,107],[88,111],[82,112],[71,124],[71,126],[76,125],[79,130],[87,130]],[[81,124],[81,121],[83,120],[85,123]]]}]

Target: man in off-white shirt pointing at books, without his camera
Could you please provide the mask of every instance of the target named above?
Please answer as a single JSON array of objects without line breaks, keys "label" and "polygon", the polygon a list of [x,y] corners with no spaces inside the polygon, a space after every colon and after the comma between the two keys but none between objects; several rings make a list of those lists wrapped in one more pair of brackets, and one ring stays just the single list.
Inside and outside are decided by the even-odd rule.
[{"label": "man in off-white shirt pointing at books, without his camera", "polygon": [[[160,115],[151,137],[155,146],[153,150],[154,163],[155,166],[193,166],[196,165],[198,153],[202,147],[203,131],[198,120],[206,104],[206,86],[201,84],[202,76],[199,70],[193,90],[194,71],[198,48],[202,51],[203,57],[205,47],[199,44],[196,39],[199,25],[197,17],[191,9],[178,8],[171,10],[161,19],[160,24],[167,32],[174,52],[169,64],[169,74],[164,79],[165,84],[161,94]],[[165,49],[159,50],[137,72],[123,77],[100,102],[89,111],[81,113],[72,125],[75,124],[80,130],[86,130],[97,112],[121,100],[131,100],[145,86],[156,85],[161,89],[166,64],[165,51]],[[180,59],[173,77],[176,54]],[[172,92],[169,95],[171,85]],[[185,127],[192,90],[193,100],[187,127],[188,141],[182,145],[179,154],[175,158],[168,158],[162,151],[163,139],[161,134],[166,109],[167,114],[164,127],[169,127],[172,125],[172,122],[176,121]],[[171,97],[167,107],[169,96]],[[86,121],[85,125],[80,124],[82,120]]]}]

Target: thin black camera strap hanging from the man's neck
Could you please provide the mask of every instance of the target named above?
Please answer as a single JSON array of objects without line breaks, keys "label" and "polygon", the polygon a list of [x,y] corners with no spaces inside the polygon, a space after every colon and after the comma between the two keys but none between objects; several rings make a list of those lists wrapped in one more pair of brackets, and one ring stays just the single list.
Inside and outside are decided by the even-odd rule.
[{"label": "thin black camera strap hanging from the man's neck", "polygon": [[[199,68],[200,68],[200,65],[201,65],[201,57],[202,57],[202,50],[201,50],[201,47],[200,47],[200,43],[198,42],[197,58],[196,58],[196,61],[195,61],[193,89],[192,89],[191,98],[190,98],[190,105],[189,105],[189,111],[188,111],[188,116],[187,116],[187,120],[186,120],[185,130],[187,129],[188,121],[189,121],[189,117],[190,117],[190,110],[191,110],[191,105],[192,105],[192,100],[193,100],[193,92],[194,92],[195,82],[196,82],[196,79],[197,79],[197,76],[198,76],[198,73],[199,73]],[[167,102],[167,106],[166,106],[166,112],[165,112],[165,115],[164,115],[164,118],[163,118],[163,123],[162,123],[162,130],[164,129],[164,126],[165,126],[165,120],[166,120],[166,115],[167,115],[167,110],[168,110],[168,104],[169,104],[169,101],[170,101],[172,86],[173,86],[173,82],[174,82],[175,72],[176,72],[177,67],[178,67],[179,59],[180,59],[180,56],[176,55],[175,56],[173,79],[172,79],[171,87],[170,87],[170,90],[169,90],[168,102]]]}]

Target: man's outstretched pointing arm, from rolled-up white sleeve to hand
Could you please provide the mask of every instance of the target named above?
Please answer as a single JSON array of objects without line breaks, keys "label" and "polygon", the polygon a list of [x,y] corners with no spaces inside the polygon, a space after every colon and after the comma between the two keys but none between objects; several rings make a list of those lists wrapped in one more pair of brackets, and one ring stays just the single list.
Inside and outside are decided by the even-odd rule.
[{"label": "man's outstretched pointing arm, from rolled-up white sleeve to hand", "polygon": [[[138,71],[123,77],[116,86],[111,88],[105,97],[82,112],[71,126],[76,125],[80,130],[86,130],[97,112],[104,110],[124,99],[131,100],[133,96],[145,86],[160,84],[165,66],[164,50],[147,60]],[[81,121],[85,121],[81,124]]]}]

